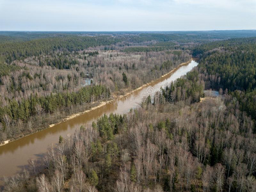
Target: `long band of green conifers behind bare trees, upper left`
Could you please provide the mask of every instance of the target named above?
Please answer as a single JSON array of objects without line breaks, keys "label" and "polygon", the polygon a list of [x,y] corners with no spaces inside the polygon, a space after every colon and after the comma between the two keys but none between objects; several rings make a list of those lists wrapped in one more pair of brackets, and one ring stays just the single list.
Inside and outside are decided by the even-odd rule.
[{"label": "long band of green conifers behind bare trees, upper left", "polygon": [[99,45],[111,45],[118,42],[109,36],[67,36],[36,39],[26,42],[8,42],[1,44],[0,57],[6,63],[29,56],[39,56],[40,54],[50,54],[54,51],[81,51],[88,47]]}]

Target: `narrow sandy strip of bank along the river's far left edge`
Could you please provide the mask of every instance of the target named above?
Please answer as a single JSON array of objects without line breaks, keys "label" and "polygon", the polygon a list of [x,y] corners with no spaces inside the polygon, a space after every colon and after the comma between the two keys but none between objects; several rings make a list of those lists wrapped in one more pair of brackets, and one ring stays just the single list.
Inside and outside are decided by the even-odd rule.
[{"label": "narrow sandy strip of bank along the river's far left edge", "polygon": [[[77,116],[81,116],[81,115],[84,115],[85,113],[89,113],[90,111],[93,111],[95,109],[99,109],[99,108],[102,108],[103,106],[105,106],[106,104],[108,103],[111,103],[111,102],[115,102],[116,100],[119,100],[119,99],[122,99],[122,98],[125,98],[129,95],[131,95],[132,93],[134,92],[138,92],[140,91],[141,89],[147,87],[147,86],[150,86],[150,84],[156,82],[156,81],[159,81],[159,79],[164,79],[166,76],[169,76],[170,74],[172,74],[173,72],[175,72],[177,69],[179,69],[180,67],[184,66],[184,65],[188,65],[193,59],[191,58],[191,60],[185,62],[185,63],[180,63],[179,65],[177,65],[177,67],[173,68],[173,70],[171,70],[170,72],[168,72],[167,74],[164,74],[163,76],[155,79],[155,80],[152,80],[150,81],[150,83],[147,83],[147,84],[143,84],[142,86],[140,86],[139,88],[136,88],[135,90],[132,90],[130,92],[127,92],[125,93],[124,95],[119,95],[119,96],[116,96],[116,97],[113,97],[113,99],[111,100],[107,100],[107,101],[104,101],[104,102],[94,102],[93,104],[97,104],[99,103],[99,105],[95,106],[95,107],[92,107],[90,109],[87,109],[85,111],[82,111],[82,112],[79,112],[79,113],[74,113],[72,115],[69,115],[69,116],[66,116],[65,118],[62,118],[61,120],[59,120],[58,122],[54,123],[54,124],[50,124],[48,127],[45,127],[45,128],[42,128],[42,129],[39,129],[35,132],[31,132],[30,134],[26,134],[20,138],[17,138],[15,140],[6,140],[4,141],[4,143],[0,144],[0,146],[3,146],[3,145],[6,145],[8,143],[12,143],[13,141],[17,141],[17,140],[20,140],[21,138],[25,138],[26,136],[30,136],[31,134],[35,134],[36,132],[40,132],[40,131],[43,131],[45,129],[48,129],[48,128],[51,128],[51,127],[54,127],[56,125],[59,125],[63,122],[67,122],[68,120],[71,120],[73,118],[76,118]],[[92,106],[93,106],[92,104]]]}]

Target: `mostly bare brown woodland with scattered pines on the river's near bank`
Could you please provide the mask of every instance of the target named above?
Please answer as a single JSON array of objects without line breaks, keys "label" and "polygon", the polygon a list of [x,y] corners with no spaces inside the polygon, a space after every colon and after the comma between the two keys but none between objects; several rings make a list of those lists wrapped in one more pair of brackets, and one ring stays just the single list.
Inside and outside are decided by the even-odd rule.
[{"label": "mostly bare brown woodland with scattered pines on the river's near bank", "polygon": [[[255,191],[255,122],[232,95],[205,98],[199,68],[141,108],[81,127],[6,191]],[[156,97],[157,98],[157,97]],[[224,99],[223,99],[224,98]]]}]

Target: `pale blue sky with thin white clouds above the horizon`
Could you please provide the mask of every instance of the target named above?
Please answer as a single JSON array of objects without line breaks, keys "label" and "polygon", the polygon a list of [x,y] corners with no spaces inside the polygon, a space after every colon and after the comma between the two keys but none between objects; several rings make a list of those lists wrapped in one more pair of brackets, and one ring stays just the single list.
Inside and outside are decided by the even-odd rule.
[{"label": "pale blue sky with thin white clouds above the horizon", "polygon": [[0,0],[0,31],[256,29],[256,0]]}]

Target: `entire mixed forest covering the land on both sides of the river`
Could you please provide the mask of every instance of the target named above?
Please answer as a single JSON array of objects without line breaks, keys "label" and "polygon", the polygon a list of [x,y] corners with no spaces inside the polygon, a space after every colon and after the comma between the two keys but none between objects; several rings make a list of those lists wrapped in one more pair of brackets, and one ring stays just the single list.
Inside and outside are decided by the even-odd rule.
[{"label": "entire mixed forest covering the land on both sides of the river", "polygon": [[[256,191],[256,38],[243,31],[191,33],[77,32],[55,34],[56,42],[36,54],[28,48],[13,56],[2,48],[1,140],[33,132],[35,120],[47,126],[53,114],[122,95],[192,56],[199,63],[140,108],[60,136],[42,159],[6,178],[3,190]],[[30,47],[49,38],[25,36],[2,44]],[[63,40],[76,36],[84,42]],[[83,86],[84,78],[92,84]]]}]

